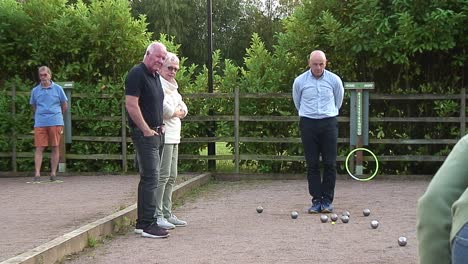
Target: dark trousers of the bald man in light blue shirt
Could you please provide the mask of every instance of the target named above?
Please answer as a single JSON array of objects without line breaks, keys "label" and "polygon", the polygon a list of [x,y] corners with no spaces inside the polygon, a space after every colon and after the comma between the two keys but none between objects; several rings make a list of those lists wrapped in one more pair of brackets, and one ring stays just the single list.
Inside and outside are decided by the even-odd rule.
[{"label": "dark trousers of the bald man in light blue shirt", "polygon": [[[301,140],[307,164],[307,180],[312,200],[333,202],[336,182],[338,122],[336,117],[299,121]],[[320,175],[322,156],[323,177]]]}]

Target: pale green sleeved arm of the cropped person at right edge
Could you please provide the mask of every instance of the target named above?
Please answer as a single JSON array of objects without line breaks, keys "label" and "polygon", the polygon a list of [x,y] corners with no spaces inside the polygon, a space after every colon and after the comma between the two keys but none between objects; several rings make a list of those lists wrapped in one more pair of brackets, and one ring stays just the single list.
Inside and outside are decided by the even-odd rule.
[{"label": "pale green sleeved arm of the cropped person at right edge", "polygon": [[468,186],[468,136],[454,146],[418,200],[416,235],[419,263],[450,264],[452,205]]}]

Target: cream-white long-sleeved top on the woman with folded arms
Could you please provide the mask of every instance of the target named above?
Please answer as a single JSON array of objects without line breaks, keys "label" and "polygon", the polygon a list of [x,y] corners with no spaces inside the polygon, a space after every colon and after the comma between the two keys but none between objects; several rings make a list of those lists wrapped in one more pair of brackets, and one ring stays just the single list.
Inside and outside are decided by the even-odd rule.
[{"label": "cream-white long-sleeved top on the woman with folded arms", "polygon": [[164,90],[163,117],[166,128],[164,143],[179,144],[182,122],[180,121],[180,118],[173,117],[173,115],[177,108],[180,108],[185,111],[185,116],[187,116],[187,105],[182,101],[182,96],[177,90],[179,88],[177,84],[174,85],[166,81],[166,79],[161,76],[159,76],[159,79],[161,79],[161,85]]}]

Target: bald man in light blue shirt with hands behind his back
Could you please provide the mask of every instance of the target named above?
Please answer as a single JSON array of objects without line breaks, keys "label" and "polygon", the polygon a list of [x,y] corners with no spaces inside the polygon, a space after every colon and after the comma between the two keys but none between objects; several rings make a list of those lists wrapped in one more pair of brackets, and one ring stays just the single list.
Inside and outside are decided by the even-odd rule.
[{"label": "bald man in light blue shirt with hands behind his back", "polygon": [[[309,213],[331,213],[336,182],[338,122],[336,117],[343,103],[343,82],[325,69],[327,58],[321,50],[309,57],[310,69],[299,75],[293,84],[292,96],[299,113],[299,129],[307,165]],[[320,175],[320,156],[323,177]]]}]

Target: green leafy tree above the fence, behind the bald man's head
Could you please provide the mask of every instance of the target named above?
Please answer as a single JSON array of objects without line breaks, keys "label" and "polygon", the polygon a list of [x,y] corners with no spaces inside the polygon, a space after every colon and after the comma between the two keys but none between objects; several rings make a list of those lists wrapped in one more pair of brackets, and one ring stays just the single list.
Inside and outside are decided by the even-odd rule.
[{"label": "green leafy tree above the fence, behind the bald man's head", "polygon": [[376,81],[381,92],[425,82],[459,86],[466,76],[459,64],[466,59],[466,1],[424,3],[303,1],[285,20],[278,46],[293,53],[296,65],[320,48],[345,80]]}]

